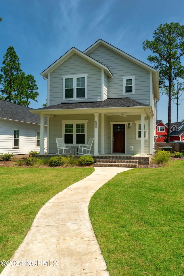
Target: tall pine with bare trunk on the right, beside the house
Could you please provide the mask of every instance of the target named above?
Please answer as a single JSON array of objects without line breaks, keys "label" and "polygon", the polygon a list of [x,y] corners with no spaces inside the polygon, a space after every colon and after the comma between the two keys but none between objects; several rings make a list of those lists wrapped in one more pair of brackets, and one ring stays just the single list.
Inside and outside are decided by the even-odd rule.
[{"label": "tall pine with bare trunk on the right, beside the house", "polygon": [[184,75],[181,57],[184,55],[184,26],[179,23],[160,25],[153,35],[154,40],[143,42],[144,50],[151,50],[155,55],[149,55],[148,60],[160,71],[160,86],[168,87],[168,132],[170,141],[171,99],[173,82]]}]

